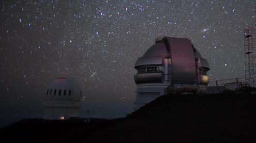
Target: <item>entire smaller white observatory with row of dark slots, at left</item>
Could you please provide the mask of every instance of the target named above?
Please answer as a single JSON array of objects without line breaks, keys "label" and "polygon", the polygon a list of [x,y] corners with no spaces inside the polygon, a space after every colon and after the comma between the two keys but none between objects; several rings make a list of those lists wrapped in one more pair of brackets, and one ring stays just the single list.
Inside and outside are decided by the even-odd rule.
[{"label": "entire smaller white observatory with row of dark slots, at left", "polygon": [[73,78],[56,78],[44,95],[43,119],[78,118],[82,92]]}]

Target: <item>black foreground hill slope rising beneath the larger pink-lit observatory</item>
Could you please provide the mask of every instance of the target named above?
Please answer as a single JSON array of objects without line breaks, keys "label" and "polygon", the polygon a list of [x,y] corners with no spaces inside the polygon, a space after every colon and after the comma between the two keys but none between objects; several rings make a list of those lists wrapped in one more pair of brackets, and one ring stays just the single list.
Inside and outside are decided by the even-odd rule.
[{"label": "black foreground hill slope rising beneath the larger pink-lit observatory", "polygon": [[256,95],[164,95],[84,142],[255,142]]}]

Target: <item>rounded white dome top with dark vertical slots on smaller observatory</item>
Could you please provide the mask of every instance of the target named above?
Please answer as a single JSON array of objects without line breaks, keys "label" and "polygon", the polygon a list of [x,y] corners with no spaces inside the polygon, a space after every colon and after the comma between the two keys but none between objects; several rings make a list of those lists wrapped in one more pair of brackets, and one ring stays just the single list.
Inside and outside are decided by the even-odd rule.
[{"label": "rounded white dome top with dark vertical slots on smaller observatory", "polygon": [[45,95],[46,101],[80,101],[81,88],[79,84],[70,77],[58,77],[53,80]]}]

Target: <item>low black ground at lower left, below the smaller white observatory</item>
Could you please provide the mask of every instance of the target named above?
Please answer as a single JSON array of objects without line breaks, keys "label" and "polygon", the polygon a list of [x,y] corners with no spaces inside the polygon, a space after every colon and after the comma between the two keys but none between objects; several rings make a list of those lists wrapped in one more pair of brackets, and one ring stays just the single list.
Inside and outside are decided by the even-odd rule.
[{"label": "low black ground at lower left, below the smaller white observatory", "polygon": [[81,142],[97,130],[120,119],[78,120],[24,119],[0,129],[0,142]]}]

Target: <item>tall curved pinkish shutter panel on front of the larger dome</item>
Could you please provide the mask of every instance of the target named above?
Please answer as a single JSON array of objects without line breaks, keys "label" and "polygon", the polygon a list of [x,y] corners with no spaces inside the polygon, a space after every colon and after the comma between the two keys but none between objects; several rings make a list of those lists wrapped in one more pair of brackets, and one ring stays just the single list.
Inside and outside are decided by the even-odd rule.
[{"label": "tall curved pinkish shutter panel on front of the larger dome", "polygon": [[188,39],[165,37],[172,57],[172,83],[194,84],[194,50]]}]

